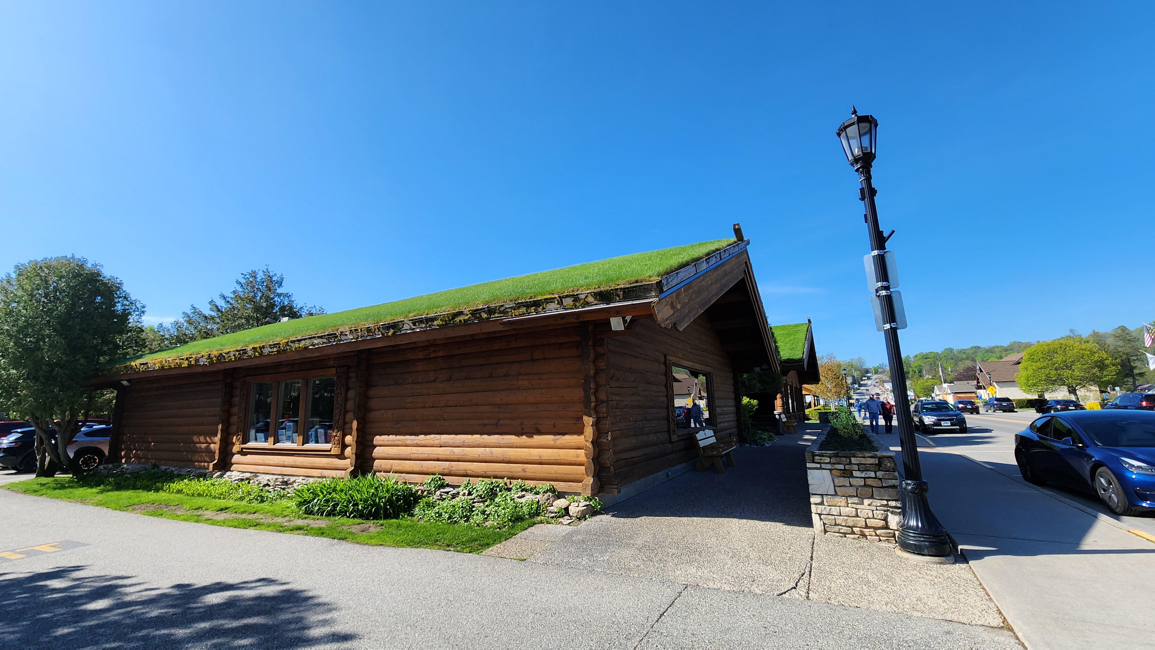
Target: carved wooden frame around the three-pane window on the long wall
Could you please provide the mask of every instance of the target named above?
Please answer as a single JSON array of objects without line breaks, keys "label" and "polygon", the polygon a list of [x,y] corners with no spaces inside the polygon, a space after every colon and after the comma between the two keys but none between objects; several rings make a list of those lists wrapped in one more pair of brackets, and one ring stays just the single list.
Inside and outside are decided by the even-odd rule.
[{"label": "carved wooden frame around the three-pane window on the long wall", "polygon": [[[334,378],[335,387],[333,391],[333,440],[328,447],[321,444],[306,444],[304,442],[304,429],[298,427],[297,432],[297,444],[277,444],[275,442],[276,434],[274,433],[271,423],[280,417],[280,398],[281,398],[281,382],[299,380],[301,382],[301,399],[300,406],[297,414],[297,421],[304,423],[307,419],[306,409],[308,406],[308,396],[305,393],[307,381],[311,379],[323,379]],[[349,369],[346,366],[335,366],[328,368],[315,368],[308,371],[299,371],[292,373],[273,373],[262,375],[248,375],[241,379],[244,389],[240,395],[240,408],[238,409],[238,438],[239,444],[234,446],[236,453],[244,454],[276,454],[276,455],[292,455],[292,456],[340,456],[342,443],[344,439],[344,420],[345,420],[345,390],[349,383]],[[267,442],[248,442],[248,409],[249,402],[252,399],[252,389],[254,383],[271,382],[273,383],[273,396],[271,404],[269,409],[269,421],[270,431],[269,439]]]}]

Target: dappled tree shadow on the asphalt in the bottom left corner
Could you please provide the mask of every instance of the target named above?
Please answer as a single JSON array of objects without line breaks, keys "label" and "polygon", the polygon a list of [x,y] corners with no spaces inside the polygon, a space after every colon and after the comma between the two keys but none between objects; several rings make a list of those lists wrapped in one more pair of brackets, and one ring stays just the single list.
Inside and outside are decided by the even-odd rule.
[{"label": "dappled tree shadow on the asphalt in the bottom left corner", "polygon": [[335,606],[276,580],[156,588],[84,570],[13,571],[0,580],[0,644],[311,648],[357,638],[326,629]]}]

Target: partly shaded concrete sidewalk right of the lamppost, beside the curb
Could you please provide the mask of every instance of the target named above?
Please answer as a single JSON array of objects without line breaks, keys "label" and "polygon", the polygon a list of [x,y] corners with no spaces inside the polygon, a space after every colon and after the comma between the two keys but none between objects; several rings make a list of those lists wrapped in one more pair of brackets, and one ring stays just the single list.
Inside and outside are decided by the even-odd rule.
[{"label": "partly shaded concrete sidewalk right of the lamppost, beside the curb", "polygon": [[1028,648],[1155,648],[1155,544],[968,457],[919,457],[936,515]]}]

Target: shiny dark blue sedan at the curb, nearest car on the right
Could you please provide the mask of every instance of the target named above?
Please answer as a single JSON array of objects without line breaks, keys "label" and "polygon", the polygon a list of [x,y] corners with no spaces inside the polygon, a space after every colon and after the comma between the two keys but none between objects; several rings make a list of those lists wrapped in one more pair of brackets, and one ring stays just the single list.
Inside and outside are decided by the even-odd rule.
[{"label": "shiny dark blue sedan at the curb, nearest car on the right", "polygon": [[1015,434],[1022,478],[1093,491],[1117,515],[1155,510],[1155,411],[1072,411]]}]

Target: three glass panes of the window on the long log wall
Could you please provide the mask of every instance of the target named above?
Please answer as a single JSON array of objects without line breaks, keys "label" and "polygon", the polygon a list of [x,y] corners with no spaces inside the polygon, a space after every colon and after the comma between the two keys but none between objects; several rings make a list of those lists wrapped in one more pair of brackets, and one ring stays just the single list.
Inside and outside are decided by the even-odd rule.
[{"label": "three glass panes of the window on the long log wall", "polygon": [[336,376],[251,381],[245,442],[331,446],[336,393]]}]

